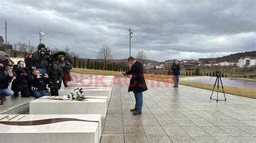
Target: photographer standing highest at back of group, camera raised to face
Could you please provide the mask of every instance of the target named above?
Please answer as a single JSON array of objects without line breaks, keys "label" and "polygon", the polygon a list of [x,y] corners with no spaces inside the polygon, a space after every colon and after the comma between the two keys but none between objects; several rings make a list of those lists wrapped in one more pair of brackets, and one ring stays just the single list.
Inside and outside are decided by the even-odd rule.
[{"label": "photographer standing highest at back of group, camera raised to face", "polygon": [[41,74],[45,74],[51,63],[51,52],[45,48],[44,44],[38,45],[38,51],[33,53],[35,67],[39,69]]}]

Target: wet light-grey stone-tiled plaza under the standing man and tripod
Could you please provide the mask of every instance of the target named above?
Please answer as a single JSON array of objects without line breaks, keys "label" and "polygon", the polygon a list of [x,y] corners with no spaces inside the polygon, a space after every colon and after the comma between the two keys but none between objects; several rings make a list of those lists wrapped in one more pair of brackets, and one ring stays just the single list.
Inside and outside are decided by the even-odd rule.
[{"label": "wet light-grey stone-tiled plaza under the standing man and tripod", "polygon": [[148,81],[142,115],[134,116],[129,81],[115,80],[101,142],[256,142],[255,99],[226,94],[217,103],[210,90]]}]

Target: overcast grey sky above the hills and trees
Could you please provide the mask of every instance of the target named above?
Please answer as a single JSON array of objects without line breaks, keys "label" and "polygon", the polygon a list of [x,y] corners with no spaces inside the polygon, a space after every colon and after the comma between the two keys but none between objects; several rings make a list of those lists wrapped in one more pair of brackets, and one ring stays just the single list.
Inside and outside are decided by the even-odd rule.
[{"label": "overcast grey sky above the hills and trees", "polygon": [[0,35],[8,41],[44,43],[95,59],[102,45],[114,59],[139,49],[147,59],[217,58],[255,51],[256,1],[0,1]]}]

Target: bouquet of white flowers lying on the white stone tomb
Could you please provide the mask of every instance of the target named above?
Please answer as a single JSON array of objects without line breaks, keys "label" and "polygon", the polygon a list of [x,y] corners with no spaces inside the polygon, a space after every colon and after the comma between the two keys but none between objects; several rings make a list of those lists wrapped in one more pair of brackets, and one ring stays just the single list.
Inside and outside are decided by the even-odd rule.
[{"label": "bouquet of white flowers lying on the white stone tomb", "polygon": [[71,101],[72,100],[75,100],[75,101],[84,101],[85,97],[84,95],[82,95],[83,93],[83,90],[82,88],[77,88],[77,89],[71,89],[70,92],[68,92],[68,94],[64,97],[63,96],[63,99],[64,98],[68,98],[70,99]]}]

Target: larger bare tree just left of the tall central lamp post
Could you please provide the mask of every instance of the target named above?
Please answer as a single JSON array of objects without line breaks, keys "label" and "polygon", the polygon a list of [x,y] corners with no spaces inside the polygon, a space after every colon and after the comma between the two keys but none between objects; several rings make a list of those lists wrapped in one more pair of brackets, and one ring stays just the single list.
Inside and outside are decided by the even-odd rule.
[{"label": "larger bare tree just left of the tall central lamp post", "polygon": [[111,54],[111,50],[109,46],[107,45],[102,46],[102,49],[100,49],[100,51],[98,52],[97,59],[100,59],[103,61],[103,70],[104,70],[107,65],[107,62],[113,59],[113,55]]}]

